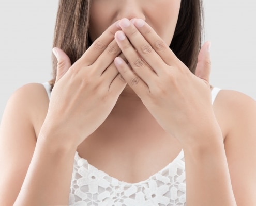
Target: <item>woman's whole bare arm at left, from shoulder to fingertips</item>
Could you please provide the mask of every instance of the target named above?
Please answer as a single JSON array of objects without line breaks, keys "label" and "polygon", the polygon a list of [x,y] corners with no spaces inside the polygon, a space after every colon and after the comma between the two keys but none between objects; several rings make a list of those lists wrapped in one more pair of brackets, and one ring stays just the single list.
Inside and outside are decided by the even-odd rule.
[{"label": "woman's whole bare arm at left, from shoulder to fingertips", "polygon": [[[116,30],[114,23],[73,65],[55,48],[58,68],[50,102],[34,84],[9,101],[0,131],[0,166],[7,168],[0,173],[1,205],[68,205],[74,153],[108,117],[126,86],[113,63],[120,54]],[[40,100],[47,107],[36,141]]]}]

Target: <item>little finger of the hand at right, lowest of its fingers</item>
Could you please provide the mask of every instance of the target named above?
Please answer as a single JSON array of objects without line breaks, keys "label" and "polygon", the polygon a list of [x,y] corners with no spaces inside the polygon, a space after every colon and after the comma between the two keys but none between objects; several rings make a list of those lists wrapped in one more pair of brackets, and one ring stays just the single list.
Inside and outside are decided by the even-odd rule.
[{"label": "little finger of the hand at right, lowest of its fingers", "polygon": [[142,97],[145,93],[150,93],[148,85],[139,76],[131,71],[129,66],[122,58],[116,57],[114,62],[122,78],[139,97]]}]

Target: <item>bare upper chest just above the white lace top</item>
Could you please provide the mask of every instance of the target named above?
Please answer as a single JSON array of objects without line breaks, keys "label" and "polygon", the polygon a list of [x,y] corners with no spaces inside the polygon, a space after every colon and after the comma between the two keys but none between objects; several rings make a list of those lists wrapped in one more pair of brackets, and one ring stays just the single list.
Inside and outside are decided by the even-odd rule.
[{"label": "bare upper chest just above the white lace top", "polygon": [[182,150],[167,134],[122,136],[99,132],[77,149],[79,156],[118,180],[135,183],[148,179],[171,163]]}]

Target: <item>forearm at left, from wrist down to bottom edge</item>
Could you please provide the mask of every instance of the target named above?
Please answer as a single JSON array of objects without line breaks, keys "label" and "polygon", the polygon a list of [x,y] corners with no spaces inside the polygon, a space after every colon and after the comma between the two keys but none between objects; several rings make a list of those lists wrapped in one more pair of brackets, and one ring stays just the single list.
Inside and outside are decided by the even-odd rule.
[{"label": "forearm at left, from wrist down to bottom edge", "polygon": [[14,206],[68,205],[76,148],[40,138]]}]

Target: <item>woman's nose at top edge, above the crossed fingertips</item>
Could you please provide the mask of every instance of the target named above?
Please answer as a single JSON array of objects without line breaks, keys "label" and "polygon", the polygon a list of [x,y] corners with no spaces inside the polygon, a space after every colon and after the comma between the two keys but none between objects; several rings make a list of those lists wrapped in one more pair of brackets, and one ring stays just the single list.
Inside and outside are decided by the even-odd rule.
[{"label": "woman's nose at top edge, above the crossed fingertips", "polygon": [[120,1],[120,6],[116,15],[116,20],[121,20],[123,18],[127,18],[129,20],[133,18],[138,18],[146,21],[143,5],[140,2],[141,1],[138,0]]}]

